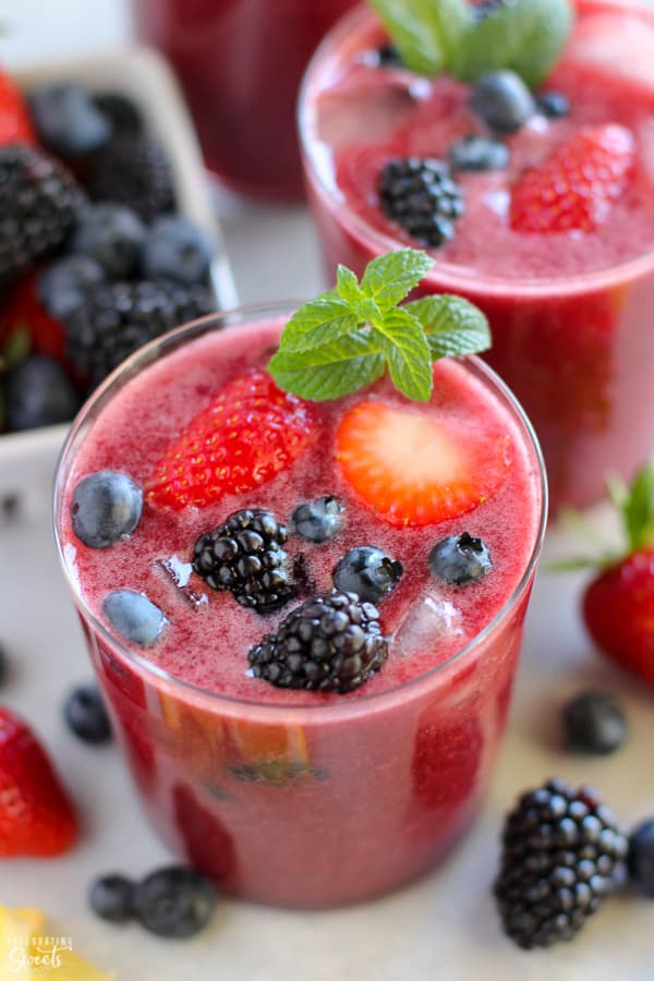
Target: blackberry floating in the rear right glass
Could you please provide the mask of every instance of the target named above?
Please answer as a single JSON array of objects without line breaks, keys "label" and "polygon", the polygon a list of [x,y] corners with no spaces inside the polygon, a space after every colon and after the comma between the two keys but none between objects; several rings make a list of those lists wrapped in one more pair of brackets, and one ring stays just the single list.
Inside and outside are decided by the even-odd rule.
[{"label": "blackberry floating in the rear right glass", "polygon": [[461,187],[448,165],[429,157],[390,160],[382,171],[378,192],[386,217],[429,249],[453,239],[455,221],[465,210]]}]

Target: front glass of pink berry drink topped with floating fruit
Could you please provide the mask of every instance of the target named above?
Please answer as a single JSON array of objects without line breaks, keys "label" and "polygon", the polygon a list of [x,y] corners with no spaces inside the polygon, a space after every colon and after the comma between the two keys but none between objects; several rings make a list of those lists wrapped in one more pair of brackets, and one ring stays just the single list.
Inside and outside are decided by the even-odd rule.
[{"label": "front glass of pink berry drink topped with floating fruit", "polygon": [[[277,304],[197,320],[126,361],[73,425],[55,512],[64,574],[155,828],[228,893],[311,908],[363,900],[421,875],[475,815],[505,726],[545,484],[529,422],[477,359],[437,362],[427,403],[408,402],[387,379],[332,402],[282,392],[264,366],[290,313]],[[219,427],[209,441],[226,468],[217,479],[231,480],[230,468],[241,476],[205,506],[204,485],[187,502],[178,467],[209,452],[206,431],[198,435],[207,412],[227,413],[229,433]],[[421,467],[414,444],[432,439],[439,453]],[[271,469],[251,480],[253,461]],[[387,476],[408,493],[415,468],[416,480],[455,487],[463,513],[459,505],[440,510],[427,486],[424,500],[380,497],[383,518],[356,489],[365,471],[364,494],[383,495]],[[133,481],[143,509],[126,537],[89,547],[77,534],[77,488],[104,471]],[[206,473],[211,482],[214,471]],[[120,513],[131,512],[132,492]],[[295,513],[315,500],[317,518]],[[389,518],[396,505],[431,508],[429,523]],[[215,532],[194,552],[198,536],[230,514],[247,523],[247,509],[275,516],[265,519],[266,534],[283,543],[303,583],[289,598],[279,581],[280,609],[249,608],[209,588],[210,574],[223,574],[211,562],[225,552],[225,530],[222,544]],[[455,542],[467,556],[463,571]],[[329,622],[363,623],[371,650],[382,632],[386,662],[347,693],[255,677],[249,651],[265,664],[263,639],[279,639],[291,610],[328,595],[332,576],[351,586],[348,577],[361,572],[352,562],[361,552],[351,549],[361,547],[384,555],[384,590],[392,591],[379,589],[378,620],[341,594],[334,602],[344,602],[346,614],[330,609]],[[202,577],[189,565],[199,554]],[[343,556],[344,580],[335,572]],[[305,620],[315,616],[308,609]],[[323,629],[317,623],[310,633]]]}]

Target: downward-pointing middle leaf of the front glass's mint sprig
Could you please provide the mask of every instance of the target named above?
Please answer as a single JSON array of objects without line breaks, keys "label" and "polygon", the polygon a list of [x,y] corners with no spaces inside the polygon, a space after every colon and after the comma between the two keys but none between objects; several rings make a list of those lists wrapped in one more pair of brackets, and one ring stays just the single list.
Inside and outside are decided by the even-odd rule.
[{"label": "downward-pointing middle leaf of the front glass's mint sprig", "polygon": [[395,387],[408,399],[426,402],[432,395],[433,376],[429,348],[420,322],[407,310],[390,310],[375,323],[372,335],[388,363]]}]

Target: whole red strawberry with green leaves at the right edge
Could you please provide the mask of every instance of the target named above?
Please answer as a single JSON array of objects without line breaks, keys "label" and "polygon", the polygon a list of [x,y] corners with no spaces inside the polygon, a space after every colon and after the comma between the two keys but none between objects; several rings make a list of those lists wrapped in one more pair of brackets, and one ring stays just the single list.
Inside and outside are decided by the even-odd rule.
[{"label": "whole red strawberry with green leaves at the right edge", "polygon": [[613,481],[609,492],[627,542],[600,560],[583,594],[583,618],[601,651],[654,686],[654,462],[631,487]]}]

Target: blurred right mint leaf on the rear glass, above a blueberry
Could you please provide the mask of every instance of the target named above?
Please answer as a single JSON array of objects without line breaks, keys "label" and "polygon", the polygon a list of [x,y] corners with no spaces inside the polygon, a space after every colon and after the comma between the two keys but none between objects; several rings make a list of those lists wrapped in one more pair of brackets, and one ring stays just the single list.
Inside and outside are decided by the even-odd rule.
[{"label": "blurred right mint leaf on the rear glass, above a blueberry", "polygon": [[[435,2],[439,7],[441,0]],[[535,88],[558,60],[571,26],[569,0],[514,0],[474,24],[447,68],[464,82],[511,69]]]}]

